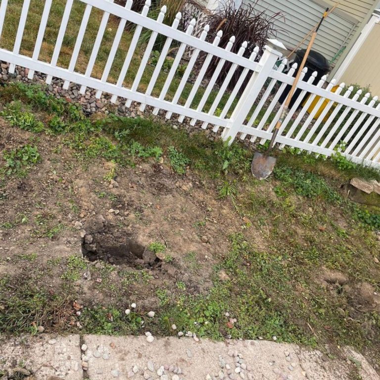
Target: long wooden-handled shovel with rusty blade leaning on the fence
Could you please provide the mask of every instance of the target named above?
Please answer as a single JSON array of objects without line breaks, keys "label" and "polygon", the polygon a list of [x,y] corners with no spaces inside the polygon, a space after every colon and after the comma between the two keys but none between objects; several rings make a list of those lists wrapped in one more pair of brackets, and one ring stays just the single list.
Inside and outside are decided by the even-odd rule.
[{"label": "long wooden-handled shovel with rusty blade leaning on the fence", "polygon": [[294,91],[297,87],[299,77],[301,75],[303,67],[305,66],[306,59],[309,55],[311,47],[313,46],[314,40],[317,36],[318,29],[321,26],[324,18],[326,18],[326,16],[328,15],[328,11],[329,11],[329,8],[326,8],[325,13],[323,14],[319,24],[317,25],[316,29],[314,30],[314,32],[311,36],[311,39],[310,39],[309,45],[306,49],[305,55],[303,56],[302,62],[298,68],[297,75],[294,78],[293,85],[291,86],[289,94],[286,97],[286,100],[284,103],[284,108],[283,108],[283,111],[281,113],[280,119],[276,123],[275,130],[273,132],[272,139],[271,139],[271,142],[269,143],[268,149],[264,153],[256,152],[253,156],[252,163],[251,163],[251,172],[252,172],[253,176],[256,177],[258,180],[264,180],[265,178],[267,178],[272,173],[273,168],[275,167],[276,157],[270,156],[269,152],[272,150],[273,146],[275,145],[276,137],[277,137],[277,134],[279,133],[279,129],[280,129],[286,115],[289,112],[289,104],[290,104],[291,97],[293,96]]}]

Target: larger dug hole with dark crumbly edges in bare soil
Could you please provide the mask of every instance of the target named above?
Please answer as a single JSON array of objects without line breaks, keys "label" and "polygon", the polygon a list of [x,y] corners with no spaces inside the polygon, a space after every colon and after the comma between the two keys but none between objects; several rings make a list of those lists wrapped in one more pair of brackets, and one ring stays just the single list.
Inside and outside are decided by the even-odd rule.
[{"label": "larger dug hole with dark crumbly edges in bare soil", "polygon": [[102,260],[137,269],[154,269],[162,264],[154,252],[131,236],[115,238],[109,234],[87,234],[82,239],[82,254],[90,261]]}]

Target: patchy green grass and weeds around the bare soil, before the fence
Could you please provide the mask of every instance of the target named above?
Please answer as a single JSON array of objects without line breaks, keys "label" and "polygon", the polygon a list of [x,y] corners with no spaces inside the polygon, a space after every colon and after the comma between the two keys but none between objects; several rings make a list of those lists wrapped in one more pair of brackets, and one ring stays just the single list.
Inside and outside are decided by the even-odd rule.
[{"label": "patchy green grass and weeds around the bare soil, before the fence", "polygon": [[[41,138],[44,134],[62,135],[57,139],[63,139],[71,148],[78,165],[99,159],[122,168],[142,161],[155,165],[157,157],[162,158],[174,172],[178,165],[186,173],[190,170],[207,179],[215,190],[215,201],[231,201],[236,211],[231,217],[244,221],[241,229],[228,237],[227,249],[215,258],[209,279],[212,285],[207,290],[193,293],[185,280],[171,288],[163,282],[152,289],[160,305],[155,321],[142,325],[144,310],[124,313],[133,285],[153,282],[149,272],[116,273],[106,266],[94,269],[81,257],[70,256],[59,263],[49,263],[47,268],[32,268],[21,279],[0,280],[2,332],[34,332],[39,324],[52,331],[77,331],[76,323],[70,325],[66,318],[67,310],[73,317],[71,305],[78,297],[72,284],[91,270],[93,277],[102,279],[97,289],[108,294],[106,298],[111,301],[87,306],[78,318],[73,317],[83,326],[82,332],[139,334],[148,329],[163,335],[173,334],[170,326],[175,323],[178,331],[190,330],[214,339],[276,336],[278,341],[319,347],[349,344],[380,352],[379,315],[358,312],[346,288],[324,287],[317,281],[325,267],[344,273],[352,283],[368,282],[380,291],[379,269],[374,265],[379,243],[373,232],[380,229],[380,214],[352,203],[339,191],[340,184],[349,178],[379,180],[379,172],[360,165],[347,168],[342,160],[288,151],[278,153],[269,182],[258,182],[249,173],[252,153],[238,143],[228,147],[222,142],[210,142],[202,133],[188,136],[148,119],[109,115],[90,120],[73,104],[41,95],[34,87],[7,86],[0,95],[3,105],[20,99],[17,112],[34,114],[35,120],[43,123],[42,131],[29,133]],[[62,121],[59,128],[57,123],[51,126],[47,122],[55,116]],[[14,128],[22,127],[15,124]],[[181,178],[183,174],[177,170],[176,175]],[[15,177],[11,173],[5,181]],[[110,199],[107,191],[95,190],[95,194],[100,199]],[[7,225],[2,228],[13,228],[24,217],[4,221]],[[49,237],[54,232],[49,214],[41,212],[31,220],[38,236]],[[194,227],[205,224],[199,219]],[[261,245],[251,240],[251,235],[258,232],[265,236]],[[165,245],[153,241],[149,249],[164,253]],[[182,260],[196,275],[202,270],[200,257],[201,252],[192,250],[182,258],[176,256],[175,261],[166,254],[164,261],[175,266]],[[25,255],[22,259],[33,263],[35,256]],[[41,278],[41,271],[52,270],[64,284],[54,294],[43,284],[34,284],[38,276]],[[226,312],[237,323],[228,324]],[[371,326],[371,332],[364,326]]]}]

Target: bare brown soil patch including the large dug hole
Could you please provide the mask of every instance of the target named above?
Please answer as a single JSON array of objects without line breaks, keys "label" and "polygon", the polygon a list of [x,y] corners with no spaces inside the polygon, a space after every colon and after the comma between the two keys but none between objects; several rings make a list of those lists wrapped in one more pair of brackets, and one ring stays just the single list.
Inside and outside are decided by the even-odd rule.
[{"label": "bare brown soil patch including the large dug hole", "polygon": [[[7,149],[30,139],[28,132],[1,121],[0,141]],[[181,178],[154,161],[119,168],[110,183],[103,179],[109,163],[78,165],[72,150],[59,139],[41,136],[41,163],[26,178],[8,181],[2,190],[7,196],[6,202],[0,202],[1,219],[16,226],[0,230],[0,252],[5,252],[1,257],[13,260],[38,251],[33,266],[43,268],[48,260],[74,251],[88,258],[89,265],[101,260],[119,272],[147,269],[153,276],[149,286],[130,287],[130,294],[137,293],[140,301],[151,302],[153,289],[163,282],[170,287],[182,281],[192,294],[207,291],[213,265],[228,251],[228,236],[242,223],[227,200],[217,199],[215,185],[190,173]],[[28,223],[19,223],[21,215]],[[197,228],[199,222],[206,222],[206,228]],[[48,238],[47,230],[56,225],[62,231]],[[152,242],[165,245],[159,257],[147,249]],[[60,250],[62,246],[72,249]],[[196,271],[190,272],[184,260],[189,252],[195,254]],[[170,263],[165,257],[171,258]],[[6,265],[2,267],[8,272]],[[53,287],[60,283],[59,278],[48,281]],[[85,283],[83,301],[93,303],[97,289],[86,281],[81,279],[76,286]],[[107,299],[102,302],[107,304]]]}]

